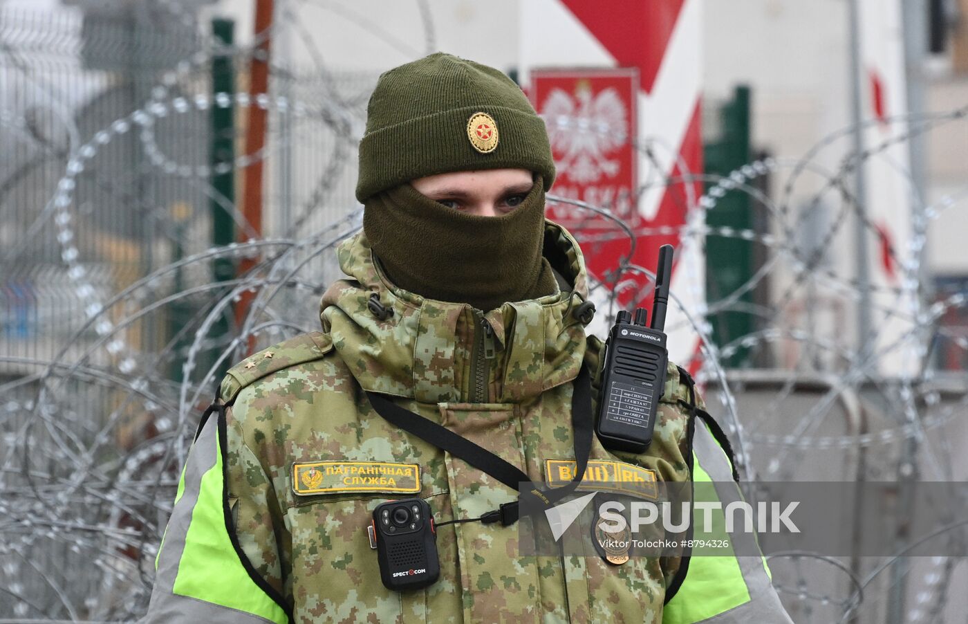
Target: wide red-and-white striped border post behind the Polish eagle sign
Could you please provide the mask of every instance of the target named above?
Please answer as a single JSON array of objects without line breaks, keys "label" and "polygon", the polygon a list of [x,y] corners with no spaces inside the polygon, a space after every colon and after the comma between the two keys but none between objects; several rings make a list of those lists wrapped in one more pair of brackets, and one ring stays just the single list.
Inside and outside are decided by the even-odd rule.
[{"label": "wide red-and-white striped border post behind the Polish eagle sign", "polygon": [[[528,0],[520,6],[519,76],[536,108],[546,115],[550,129],[554,124],[547,116],[549,107],[552,111],[567,110],[570,104],[572,109],[581,110],[583,101],[579,100],[578,85],[572,80],[573,86],[562,83],[557,87],[568,96],[569,103],[560,98],[560,104],[548,103],[549,91],[556,87],[547,82],[550,74],[545,70],[578,68],[589,71],[589,76],[595,76],[595,71],[602,69],[635,70],[639,77],[635,106],[629,106],[632,116],[628,124],[631,138],[628,145],[634,153],[635,167],[627,173],[622,171],[620,145],[614,140],[582,148],[594,157],[565,160],[568,143],[552,138],[556,160],[566,167],[560,167],[551,194],[578,193],[579,199],[600,194],[599,201],[590,203],[608,205],[609,194],[614,189],[610,207],[617,212],[627,210],[629,218],[625,221],[637,234],[632,263],[654,270],[658,248],[665,243],[673,244],[676,262],[672,292],[686,309],[703,308],[706,261],[701,239],[679,235],[687,219],[701,220],[703,215],[702,210],[695,209],[695,202],[702,195],[701,184],[682,179],[690,173],[702,172],[701,0]],[[537,31],[535,24],[540,25]],[[603,80],[606,74],[600,76]],[[584,100],[592,111],[587,118],[618,118],[618,107],[611,102],[611,96],[602,100],[601,110],[598,109],[596,98],[605,90],[605,83],[588,79],[590,91],[581,96],[590,98]],[[617,93],[620,93],[618,88]],[[604,153],[595,152],[596,149]],[[610,161],[619,161],[614,177],[608,175],[614,169]],[[591,179],[595,172],[599,177]],[[625,208],[620,189],[635,188],[635,185],[639,185],[641,192],[637,197],[633,194],[630,205]],[[600,223],[600,219],[593,220],[593,227]],[[629,245],[626,237],[619,236],[611,241],[583,243],[583,250],[592,276],[604,280],[619,259],[627,255]],[[641,273],[628,273],[624,279],[634,280],[636,287],[620,291],[620,306],[650,308],[652,288],[648,278]],[[599,310],[608,309],[608,294],[609,289],[605,288],[592,296]],[[591,327],[599,335],[607,331],[604,316],[596,315]],[[673,300],[669,303],[666,330],[670,334],[670,357],[695,371],[696,334],[679,314],[678,303]]]}]

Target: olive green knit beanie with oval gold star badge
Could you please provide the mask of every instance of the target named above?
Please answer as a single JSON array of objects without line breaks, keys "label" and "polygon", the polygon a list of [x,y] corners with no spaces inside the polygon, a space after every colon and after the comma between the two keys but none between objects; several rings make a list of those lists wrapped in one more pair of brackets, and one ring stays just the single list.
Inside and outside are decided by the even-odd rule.
[{"label": "olive green knit beanie with oval gold star badge", "polygon": [[418,177],[485,169],[540,173],[545,190],[555,180],[544,121],[511,78],[442,52],[379,77],[360,141],[360,203]]}]

